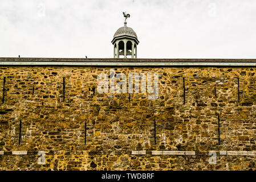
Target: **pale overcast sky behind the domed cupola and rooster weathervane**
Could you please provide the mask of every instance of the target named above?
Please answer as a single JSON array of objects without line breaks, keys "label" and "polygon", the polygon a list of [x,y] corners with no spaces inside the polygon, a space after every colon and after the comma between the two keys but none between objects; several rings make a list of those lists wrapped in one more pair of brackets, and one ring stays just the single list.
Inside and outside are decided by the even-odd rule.
[{"label": "pale overcast sky behind the domed cupola and rooster weathervane", "polygon": [[255,0],[1,0],[0,57],[113,57],[123,11],[138,58],[256,59]]}]

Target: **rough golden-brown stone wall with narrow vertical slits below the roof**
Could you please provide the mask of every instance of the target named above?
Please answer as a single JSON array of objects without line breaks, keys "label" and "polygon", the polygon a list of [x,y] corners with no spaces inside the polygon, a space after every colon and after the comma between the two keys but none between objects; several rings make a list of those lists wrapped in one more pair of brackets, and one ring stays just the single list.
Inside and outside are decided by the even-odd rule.
[{"label": "rough golden-brown stone wall with narrow vertical slits below the roof", "polygon": [[[2,66],[0,169],[256,169],[256,68],[115,68],[159,73],[156,100],[148,93],[97,93],[97,75],[111,69]],[[46,152],[46,164],[37,163],[38,151]],[[209,164],[209,151],[252,153],[218,155]]]}]

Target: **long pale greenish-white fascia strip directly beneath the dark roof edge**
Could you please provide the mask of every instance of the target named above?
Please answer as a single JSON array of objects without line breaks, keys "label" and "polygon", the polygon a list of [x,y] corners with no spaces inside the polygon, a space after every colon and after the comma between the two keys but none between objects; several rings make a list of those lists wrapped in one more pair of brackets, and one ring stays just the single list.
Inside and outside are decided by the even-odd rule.
[{"label": "long pale greenish-white fascia strip directly beneath the dark roof edge", "polygon": [[76,61],[0,61],[0,65],[60,65],[60,66],[235,66],[251,67],[256,63],[246,62],[76,62]]}]

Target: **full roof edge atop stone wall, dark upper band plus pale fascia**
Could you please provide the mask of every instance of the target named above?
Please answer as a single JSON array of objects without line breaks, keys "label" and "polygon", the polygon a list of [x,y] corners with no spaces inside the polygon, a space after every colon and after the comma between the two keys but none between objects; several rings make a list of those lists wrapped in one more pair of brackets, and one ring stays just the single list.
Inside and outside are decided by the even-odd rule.
[{"label": "full roof edge atop stone wall, dark upper band plus pale fascia", "polygon": [[256,59],[115,59],[0,57],[0,65],[18,66],[229,66],[256,67]]}]

